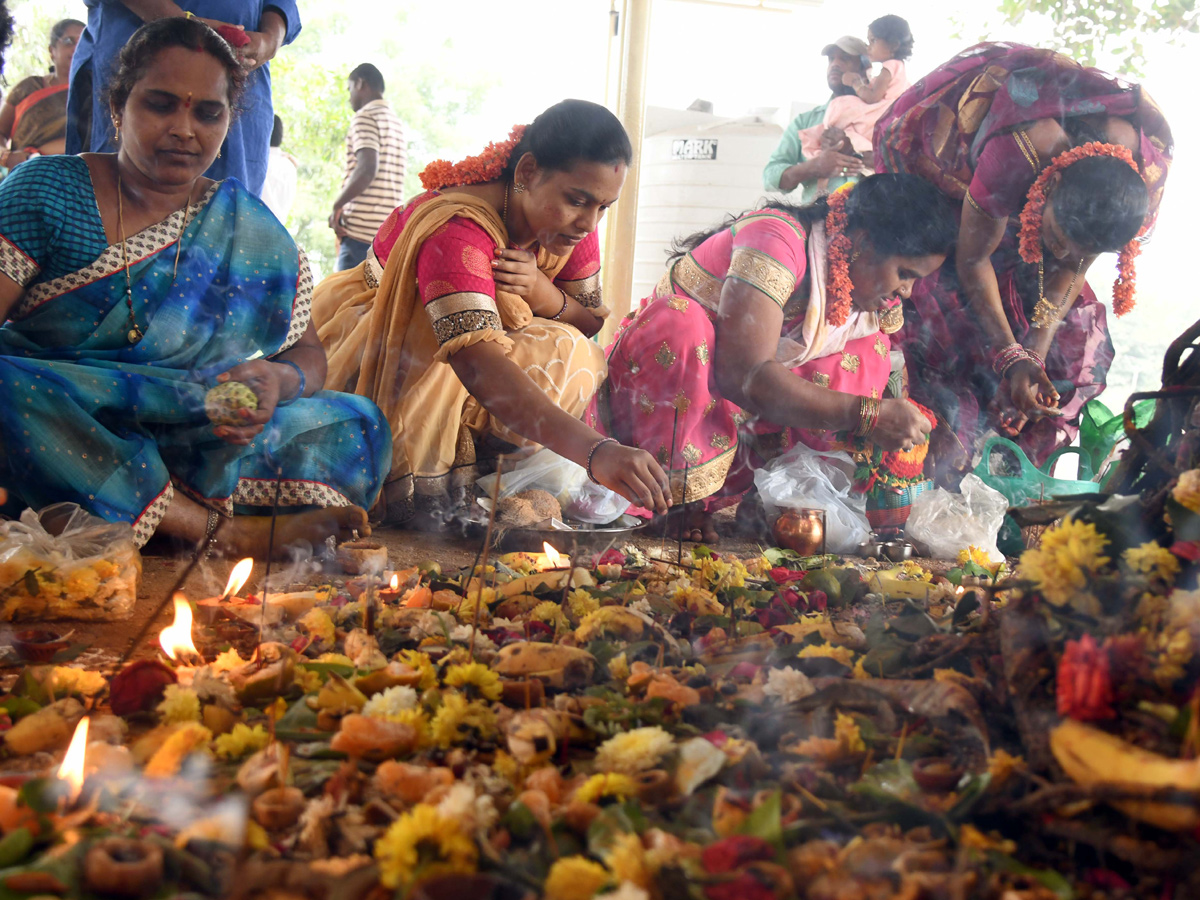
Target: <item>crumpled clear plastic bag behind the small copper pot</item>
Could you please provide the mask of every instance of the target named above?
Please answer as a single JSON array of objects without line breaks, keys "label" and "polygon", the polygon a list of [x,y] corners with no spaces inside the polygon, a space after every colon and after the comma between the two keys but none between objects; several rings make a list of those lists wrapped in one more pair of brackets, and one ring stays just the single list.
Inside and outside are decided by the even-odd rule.
[{"label": "crumpled clear plastic bag behind the small copper pot", "polygon": [[754,482],[769,520],[785,509],[823,509],[826,548],[853,553],[871,534],[866,498],[852,492],[853,468],[848,454],[817,452],[800,444],[755,470]]}]

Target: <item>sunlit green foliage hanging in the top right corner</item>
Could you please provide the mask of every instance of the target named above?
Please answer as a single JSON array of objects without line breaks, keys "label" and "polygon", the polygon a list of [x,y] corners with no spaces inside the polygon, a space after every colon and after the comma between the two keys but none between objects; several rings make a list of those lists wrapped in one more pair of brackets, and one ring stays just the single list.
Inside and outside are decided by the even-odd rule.
[{"label": "sunlit green foliage hanging in the top right corner", "polygon": [[1144,74],[1145,35],[1200,31],[1196,0],[1001,0],[1000,12],[1009,25],[1031,13],[1045,16],[1054,34],[1042,46],[1086,66],[1094,66],[1103,52],[1133,76]]}]

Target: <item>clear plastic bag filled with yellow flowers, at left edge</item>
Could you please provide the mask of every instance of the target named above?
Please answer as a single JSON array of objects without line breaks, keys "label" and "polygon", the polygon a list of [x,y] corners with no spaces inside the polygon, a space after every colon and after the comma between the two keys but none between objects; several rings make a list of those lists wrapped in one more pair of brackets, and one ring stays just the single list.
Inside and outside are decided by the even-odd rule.
[{"label": "clear plastic bag filled with yellow flowers, at left edge", "polygon": [[106,522],[74,503],[0,522],[0,620],[125,619],[140,578],[128,522]]}]

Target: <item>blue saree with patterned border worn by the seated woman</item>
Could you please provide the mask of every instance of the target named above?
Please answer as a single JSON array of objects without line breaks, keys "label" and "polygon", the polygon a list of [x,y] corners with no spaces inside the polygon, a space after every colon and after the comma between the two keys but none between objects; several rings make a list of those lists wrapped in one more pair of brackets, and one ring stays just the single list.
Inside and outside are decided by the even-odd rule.
[{"label": "blue saree with patterned border worn by the seated woman", "polygon": [[[126,258],[144,332],[132,344]],[[277,408],[246,446],[212,433],[216,376],[292,347],[312,298],[302,252],[236,180],[122,254],[86,162],[31,160],[0,182],[0,272],[25,287],[0,328],[0,484],[20,502],[72,500],[130,522],[139,544],[175,490],[233,515],[271,505],[277,469],[281,505],[374,503],[391,432],[368,400],[319,391]]]}]

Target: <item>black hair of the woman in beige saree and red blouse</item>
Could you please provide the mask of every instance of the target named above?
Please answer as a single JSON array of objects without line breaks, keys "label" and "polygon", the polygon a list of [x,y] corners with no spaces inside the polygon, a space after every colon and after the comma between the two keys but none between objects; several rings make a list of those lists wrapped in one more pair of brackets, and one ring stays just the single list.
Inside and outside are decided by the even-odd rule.
[{"label": "black hair of the woman in beige saree and red blouse", "polygon": [[512,149],[503,178],[512,178],[527,152],[533,154],[538,166],[554,172],[565,172],[578,161],[634,162],[634,145],[620,120],[586,100],[564,100],[542,110]]}]

